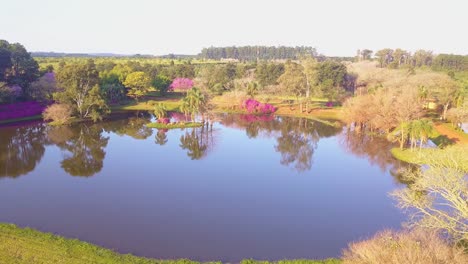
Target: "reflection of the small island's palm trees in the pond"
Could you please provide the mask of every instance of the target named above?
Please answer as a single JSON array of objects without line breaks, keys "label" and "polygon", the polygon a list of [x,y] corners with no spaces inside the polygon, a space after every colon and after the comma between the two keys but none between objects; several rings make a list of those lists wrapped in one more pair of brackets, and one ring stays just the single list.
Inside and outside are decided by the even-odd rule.
[{"label": "reflection of the small island's palm trees in the pond", "polygon": [[179,146],[187,150],[187,156],[192,160],[202,159],[214,146],[213,130],[209,129],[208,124],[192,128],[190,132],[186,131],[180,137]]}]

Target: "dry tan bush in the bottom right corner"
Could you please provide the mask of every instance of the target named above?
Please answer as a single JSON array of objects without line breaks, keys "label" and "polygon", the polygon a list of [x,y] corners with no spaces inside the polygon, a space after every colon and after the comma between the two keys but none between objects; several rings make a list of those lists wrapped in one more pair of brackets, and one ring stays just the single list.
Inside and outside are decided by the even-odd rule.
[{"label": "dry tan bush in the bottom right corner", "polygon": [[468,263],[468,255],[435,232],[386,230],[369,240],[351,243],[343,252],[343,263],[462,264]]}]

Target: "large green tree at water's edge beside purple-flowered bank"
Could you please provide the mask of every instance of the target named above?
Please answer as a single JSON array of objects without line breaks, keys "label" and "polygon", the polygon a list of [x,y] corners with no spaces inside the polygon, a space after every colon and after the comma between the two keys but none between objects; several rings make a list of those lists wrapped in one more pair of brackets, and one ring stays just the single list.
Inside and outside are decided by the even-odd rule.
[{"label": "large green tree at water's edge beside purple-flowered bank", "polygon": [[65,65],[57,73],[57,86],[61,92],[53,97],[56,101],[69,104],[80,118],[102,118],[108,106],[99,89],[99,75],[93,60],[86,63]]}]

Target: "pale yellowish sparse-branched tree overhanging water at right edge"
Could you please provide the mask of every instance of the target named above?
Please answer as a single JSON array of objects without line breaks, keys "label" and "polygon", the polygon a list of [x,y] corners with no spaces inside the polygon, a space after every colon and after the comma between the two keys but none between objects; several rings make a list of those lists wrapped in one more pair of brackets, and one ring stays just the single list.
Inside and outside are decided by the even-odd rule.
[{"label": "pale yellowish sparse-branched tree overhanging water at right edge", "polygon": [[439,150],[426,155],[428,168],[406,173],[412,184],[392,196],[400,208],[411,209],[412,226],[443,230],[456,241],[468,240],[467,171],[462,167],[467,151],[466,147]]}]

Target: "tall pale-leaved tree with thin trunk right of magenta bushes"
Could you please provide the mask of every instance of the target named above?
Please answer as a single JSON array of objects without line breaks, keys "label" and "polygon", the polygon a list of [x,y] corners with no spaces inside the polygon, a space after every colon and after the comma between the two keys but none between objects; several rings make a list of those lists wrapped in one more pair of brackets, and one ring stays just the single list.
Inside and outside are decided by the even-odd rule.
[{"label": "tall pale-leaved tree with thin trunk right of magenta bushes", "polygon": [[[279,84],[289,93],[299,97],[304,96],[306,93],[307,80],[304,74],[304,67],[302,65],[287,62],[285,65],[284,73],[278,78]],[[300,103],[300,111],[302,112],[302,102]]]}]

